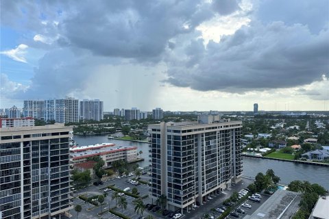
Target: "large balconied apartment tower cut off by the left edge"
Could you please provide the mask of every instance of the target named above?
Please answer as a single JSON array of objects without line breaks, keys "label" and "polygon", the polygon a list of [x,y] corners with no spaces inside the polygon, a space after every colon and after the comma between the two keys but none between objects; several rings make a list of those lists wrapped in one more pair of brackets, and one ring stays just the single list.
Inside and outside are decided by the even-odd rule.
[{"label": "large balconied apartment tower cut off by the left edge", "polygon": [[69,138],[64,124],[0,129],[1,219],[58,216],[70,209]]}]

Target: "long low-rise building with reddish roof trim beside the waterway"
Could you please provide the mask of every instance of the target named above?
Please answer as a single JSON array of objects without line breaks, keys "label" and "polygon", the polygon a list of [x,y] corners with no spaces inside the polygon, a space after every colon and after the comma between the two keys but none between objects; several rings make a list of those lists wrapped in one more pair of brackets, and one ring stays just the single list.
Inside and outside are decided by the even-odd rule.
[{"label": "long low-rise building with reddish roof trim beside the waterway", "polygon": [[105,162],[104,168],[112,166],[112,162],[123,159],[134,162],[137,157],[136,146],[106,146],[101,149],[90,149],[86,151],[77,151],[70,154],[71,164],[81,164],[87,161],[88,157],[101,157]]}]

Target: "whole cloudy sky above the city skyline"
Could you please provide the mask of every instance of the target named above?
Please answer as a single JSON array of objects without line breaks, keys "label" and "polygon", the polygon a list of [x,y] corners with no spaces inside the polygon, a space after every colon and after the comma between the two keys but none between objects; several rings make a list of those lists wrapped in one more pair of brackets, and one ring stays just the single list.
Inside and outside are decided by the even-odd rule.
[{"label": "whole cloudy sky above the city skyline", "polygon": [[0,1],[0,108],[329,109],[328,0]]}]

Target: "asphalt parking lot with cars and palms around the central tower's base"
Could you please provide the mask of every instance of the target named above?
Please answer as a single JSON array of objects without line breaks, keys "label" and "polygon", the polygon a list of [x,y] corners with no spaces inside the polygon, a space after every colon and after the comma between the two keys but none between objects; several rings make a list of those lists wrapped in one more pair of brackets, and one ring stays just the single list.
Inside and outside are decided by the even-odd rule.
[{"label": "asphalt parking lot with cars and palms around the central tower's base", "polygon": [[[144,185],[144,184],[132,185],[127,182],[128,179],[132,179],[132,178],[133,177],[123,177],[122,179],[113,178],[108,181],[104,181],[103,185],[97,185],[97,186],[89,185],[87,188],[84,188],[83,190],[74,192],[73,194],[76,198],[73,199],[73,205],[74,206],[77,204],[82,205],[82,212],[80,212],[79,218],[87,218],[87,219],[95,218],[95,217],[98,217],[97,213],[99,213],[101,211],[100,207],[94,207],[93,209],[91,209],[89,211],[88,209],[90,209],[90,207],[93,207],[93,205],[90,205],[89,203],[85,203],[84,201],[77,198],[81,194],[83,194],[85,196],[100,195],[100,194],[103,194],[103,189],[106,188],[108,185],[115,185],[116,188],[119,188],[121,190],[124,190],[125,188],[128,188],[128,187],[130,189],[136,187],[138,189],[138,192],[140,192],[140,194],[139,194],[140,196],[145,196],[145,195],[149,194],[148,185]],[[147,175],[141,175],[141,180],[148,181],[148,179],[149,179],[149,177]],[[243,178],[239,183],[232,186],[232,188],[228,188],[227,190],[224,190],[221,194],[215,196],[215,198],[213,200],[207,201],[200,207],[197,207],[196,209],[192,209],[189,212],[184,211],[184,216],[182,218],[199,219],[207,213],[210,213],[213,216],[215,216],[215,218],[217,218],[217,216],[219,216],[220,214],[218,214],[217,212],[211,211],[211,209],[213,209],[213,208],[216,209],[217,207],[220,207],[221,203],[223,203],[223,201],[226,198],[229,198],[233,192],[239,192],[239,190],[246,188],[247,185],[249,185],[250,183],[252,183],[252,180]],[[131,192],[131,190],[130,190],[130,192]],[[112,193],[113,193],[113,191],[107,192],[107,197],[102,205],[103,211],[108,210],[108,207],[111,207],[111,208],[114,207],[115,201],[114,200],[112,201]],[[127,196],[127,195],[125,195],[125,198],[127,199],[127,209],[121,210],[121,208],[118,208],[117,211],[121,214],[125,214],[126,216],[128,216],[132,219],[137,219],[138,215],[134,212],[135,205],[132,203],[135,198],[133,198],[131,196]],[[264,198],[266,198],[266,197],[263,197],[261,203],[263,203],[266,200]],[[147,204],[147,203],[152,204],[151,198],[145,198],[145,199],[143,199],[143,202],[145,204]],[[252,201],[247,201],[247,203],[252,205],[252,209],[243,208],[246,211],[245,212],[246,214],[252,214],[252,212],[254,212],[261,205],[261,203],[253,203]],[[155,203],[153,203],[153,204],[155,204]],[[104,208],[106,208],[106,209],[104,209]],[[76,212],[74,210],[72,210],[70,213],[73,215],[73,218],[74,218],[74,216],[76,217]],[[143,216],[147,216],[149,214],[153,215],[154,218],[166,218],[159,213],[154,213],[152,211],[145,209]],[[112,219],[112,218],[119,218],[119,217],[114,216],[107,211],[105,214],[103,214],[101,216],[101,218]],[[233,218],[233,217],[230,217],[230,218]]]}]

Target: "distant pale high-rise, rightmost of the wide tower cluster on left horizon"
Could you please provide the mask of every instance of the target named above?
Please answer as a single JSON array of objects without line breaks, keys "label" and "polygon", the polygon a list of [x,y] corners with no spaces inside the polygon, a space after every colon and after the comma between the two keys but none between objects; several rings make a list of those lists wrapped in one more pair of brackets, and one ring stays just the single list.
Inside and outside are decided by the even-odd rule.
[{"label": "distant pale high-rise, rightmost of the wide tower cluster on left horizon", "polygon": [[103,119],[103,101],[99,99],[80,101],[80,120],[101,119]]}]

